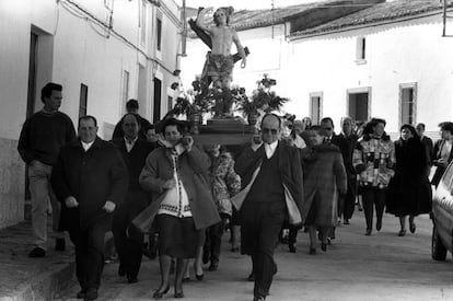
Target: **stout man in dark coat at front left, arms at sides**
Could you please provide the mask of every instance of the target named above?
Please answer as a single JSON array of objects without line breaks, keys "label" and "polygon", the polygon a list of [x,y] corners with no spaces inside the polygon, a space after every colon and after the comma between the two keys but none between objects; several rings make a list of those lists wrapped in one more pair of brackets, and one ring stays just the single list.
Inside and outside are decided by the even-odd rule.
[{"label": "stout man in dark coat at front left, arms at sides", "polygon": [[93,116],[79,119],[79,139],[61,148],[51,185],[61,201],[61,227],[76,246],[79,299],[97,299],[104,239],[113,211],[126,197],[128,172],[117,148],[97,137]]}]

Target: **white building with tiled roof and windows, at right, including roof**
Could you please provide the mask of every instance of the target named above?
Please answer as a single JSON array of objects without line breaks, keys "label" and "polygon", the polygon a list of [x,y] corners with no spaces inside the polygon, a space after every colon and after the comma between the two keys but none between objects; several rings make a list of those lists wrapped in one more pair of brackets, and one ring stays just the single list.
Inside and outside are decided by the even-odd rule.
[{"label": "white building with tiled roof and windows, at right, including roof", "polygon": [[[452,1],[448,13],[453,14]],[[288,111],[315,119],[383,117],[403,124],[453,119],[453,22],[438,0],[394,0],[288,36]],[[450,33],[450,37],[449,37]],[[338,129],[339,130],[339,129]]]}]

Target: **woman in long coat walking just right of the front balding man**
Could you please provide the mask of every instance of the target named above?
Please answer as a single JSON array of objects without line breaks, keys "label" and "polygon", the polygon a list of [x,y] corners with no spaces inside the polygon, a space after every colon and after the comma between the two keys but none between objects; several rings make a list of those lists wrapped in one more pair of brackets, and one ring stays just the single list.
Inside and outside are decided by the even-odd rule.
[{"label": "woman in long coat walking just right of the front balding man", "polygon": [[321,248],[327,250],[327,233],[337,221],[337,201],[347,190],[346,170],[341,152],[336,146],[323,143],[325,131],[313,126],[307,131],[310,147],[303,149],[302,220],[309,227],[310,254],[316,253],[316,229],[320,229]]}]

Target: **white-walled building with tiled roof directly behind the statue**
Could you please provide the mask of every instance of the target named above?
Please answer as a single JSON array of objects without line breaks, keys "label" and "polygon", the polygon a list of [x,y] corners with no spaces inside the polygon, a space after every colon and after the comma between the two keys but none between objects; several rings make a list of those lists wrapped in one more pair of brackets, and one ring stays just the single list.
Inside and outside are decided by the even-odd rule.
[{"label": "white-walled building with tiled roof directly behind the statue", "polygon": [[[268,73],[277,79],[276,86],[282,94],[286,90],[283,70],[290,63],[288,36],[292,31],[309,28],[344,15],[355,13],[380,3],[384,0],[335,0],[306,4],[290,5],[264,10],[241,10],[233,13],[230,25],[234,27],[242,40],[247,46],[251,55],[247,58],[247,68],[235,68],[234,83],[245,86],[247,91],[256,88],[255,82]],[[197,9],[186,9],[188,19],[196,19]],[[213,23],[211,23],[213,24]],[[190,83],[196,74],[201,73],[209,48],[189,32],[187,39],[187,57],[182,59],[182,79],[185,89],[190,89]],[[235,51],[233,46],[232,53]]]}]

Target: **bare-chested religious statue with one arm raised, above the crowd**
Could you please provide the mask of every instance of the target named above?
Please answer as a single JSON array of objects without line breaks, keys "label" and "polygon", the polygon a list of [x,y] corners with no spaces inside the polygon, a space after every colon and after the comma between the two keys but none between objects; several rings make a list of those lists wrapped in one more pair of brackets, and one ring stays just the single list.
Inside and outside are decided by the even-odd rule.
[{"label": "bare-chested religious statue with one arm raised, above the crowd", "polygon": [[236,45],[239,57],[242,59],[242,68],[246,66],[247,49],[242,47],[237,33],[230,26],[233,8],[219,8],[213,14],[214,25],[205,25],[205,15],[212,11],[212,8],[201,9],[197,21],[191,21],[189,24],[195,33],[211,48],[211,51],[207,54],[201,74],[201,83],[205,85],[204,91],[212,82],[218,95],[216,97],[216,116],[231,117],[233,96],[231,95],[230,84],[234,62],[237,60],[237,54],[231,55],[231,45],[233,43]]}]

